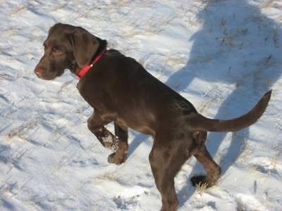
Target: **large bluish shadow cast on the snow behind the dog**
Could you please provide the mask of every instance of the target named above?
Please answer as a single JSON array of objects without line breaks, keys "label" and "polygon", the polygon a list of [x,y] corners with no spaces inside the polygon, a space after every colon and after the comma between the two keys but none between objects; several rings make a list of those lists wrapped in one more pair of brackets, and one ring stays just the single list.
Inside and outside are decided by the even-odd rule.
[{"label": "large bluish shadow cast on the snow behind the dog", "polygon": [[[188,63],[171,75],[166,84],[178,92],[185,90],[188,93],[195,78],[207,84],[234,84],[234,91],[223,99],[213,118],[231,119],[247,113],[280,77],[281,72],[271,63],[281,63],[281,58],[277,58],[281,28],[276,28],[273,20],[246,1],[240,1],[240,4],[209,1],[197,14],[197,20],[202,20],[202,29],[191,38],[193,45]],[[192,99],[188,100],[193,103]],[[240,155],[244,143],[240,137],[246,138],[248,134],[249,129],[243,129],[231,137],[219,163],[222,175]],[[207,149],[212,157],[219,153],[225,137],[222,133],[209,134]],[[204,172],[197,170],[198,164],[192,168],[190,176]],[[195,192],[191,186],[188,180],[178,191],[180,207]]]}]

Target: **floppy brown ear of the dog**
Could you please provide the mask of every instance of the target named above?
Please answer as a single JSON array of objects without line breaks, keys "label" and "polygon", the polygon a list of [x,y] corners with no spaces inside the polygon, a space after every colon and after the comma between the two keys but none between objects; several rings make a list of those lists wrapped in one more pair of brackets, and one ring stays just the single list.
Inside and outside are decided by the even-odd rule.
[{"label": "floppy brown ear of the dog", "polygon": [[73,54],[80,68],[88,65],[99,48],[99,41],[89,32],[81,29],[75,29],[70,34]]}]

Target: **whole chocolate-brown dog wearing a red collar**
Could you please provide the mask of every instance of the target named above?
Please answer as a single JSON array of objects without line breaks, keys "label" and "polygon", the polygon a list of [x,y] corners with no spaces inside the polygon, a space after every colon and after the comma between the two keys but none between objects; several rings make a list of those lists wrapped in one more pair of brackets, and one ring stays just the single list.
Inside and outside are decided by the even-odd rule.
[{"label": "whole chocolate-brown dog wearing a red collar", "polygon": [[[94,108],[90,131],[106,148],[116,148],[109,162],[125,162],[128,128],[154,137],[149,154],[154,179],[161,193],[161,210],[176,210],[174,177],[194,155],[207,176],[193,177],[192,184],[213,186],[221,168],[209,155],[207,132],[235,132],[254,124],[266,109],[271,91],[252,110],[233,120],[211,120],[197,113],[185,98],[166,87],[140,63],[116,50],[106,51],[106,40],[81,27],[58,23],[44,41],[44,56],[35,68],[41,79],[51,80],[65,69],[78,75],[78,90]],[[104,125],[114,121],[115,135]]]}]

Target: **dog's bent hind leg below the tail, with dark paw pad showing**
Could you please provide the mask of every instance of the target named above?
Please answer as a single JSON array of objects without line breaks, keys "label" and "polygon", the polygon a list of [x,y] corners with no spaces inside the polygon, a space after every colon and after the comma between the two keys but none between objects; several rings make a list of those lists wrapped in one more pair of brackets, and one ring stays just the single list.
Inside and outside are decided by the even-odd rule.
[{"label": "dog's bent hind leg below the tail, with dark paw pad showing", "polygon": [[195,158],[202,164],[207,176],[192,177],[193,186],[207,185],[207,188],[214,186],[221,175],[221,168],[214,162],[212,156],[209,155],[206,146],[202,146],[201,151],[194,154]]}]

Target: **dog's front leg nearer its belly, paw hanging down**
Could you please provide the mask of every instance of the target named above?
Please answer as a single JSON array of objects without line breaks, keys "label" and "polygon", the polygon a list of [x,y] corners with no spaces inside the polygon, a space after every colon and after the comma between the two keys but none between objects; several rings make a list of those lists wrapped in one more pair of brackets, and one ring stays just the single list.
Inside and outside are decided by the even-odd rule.
[{"label": "dog's front leg nearer its belly, paw hanging down", "polygon": [[118,123],[114,122],[115,134],[118,136],[118,148],[116,153],[109,155],[108,161],[120,165],[125,162],[128,153],[128,129],[120,127]]}]

